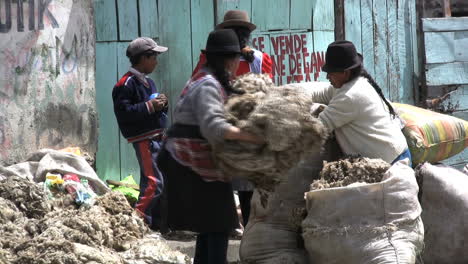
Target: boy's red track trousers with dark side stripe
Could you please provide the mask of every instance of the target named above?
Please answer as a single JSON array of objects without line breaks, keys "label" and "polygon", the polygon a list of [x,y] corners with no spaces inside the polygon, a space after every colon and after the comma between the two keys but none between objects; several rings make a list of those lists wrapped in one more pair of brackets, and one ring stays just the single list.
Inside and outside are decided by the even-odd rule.
[{"label": "boy's red track trousers with dark side stripe", "polygon": [[160,143],[145,139],[133,143],[133,147],[140,165],[140,196],[135,208],[144,215],[148,225],[154,227],[161,221],[157,207],[164,186],[163,175],[156,164]]}]

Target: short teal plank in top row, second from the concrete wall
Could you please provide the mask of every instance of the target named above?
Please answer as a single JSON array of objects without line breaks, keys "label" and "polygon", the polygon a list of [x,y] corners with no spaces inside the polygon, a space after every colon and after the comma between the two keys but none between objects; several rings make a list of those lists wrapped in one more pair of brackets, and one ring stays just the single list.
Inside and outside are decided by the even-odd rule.
[{"label": "short teal plank in top row, second from the concrete wall", "polygon": [[133,40],[138,37],[138,9],[135,0],[117,0],[119,16],[119,40]]}]

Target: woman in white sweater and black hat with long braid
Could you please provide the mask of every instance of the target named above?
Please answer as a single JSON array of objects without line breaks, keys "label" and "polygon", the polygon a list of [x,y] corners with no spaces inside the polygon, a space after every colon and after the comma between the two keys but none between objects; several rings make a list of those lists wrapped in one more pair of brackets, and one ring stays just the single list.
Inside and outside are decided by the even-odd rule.
[{"label": "woman in white sweater and black hat with long braid", "polygon": [[[332,86],[312,91],[314,102],[328,106],[318,114],[335,131],[347,155],[381,158],[388,163],[409,158],[398,117],[382,90],[364,70],[362,55],[352,42],[336,41],[327,48],[325,65]],[[305,84],[307,85],[307,84]]]}]

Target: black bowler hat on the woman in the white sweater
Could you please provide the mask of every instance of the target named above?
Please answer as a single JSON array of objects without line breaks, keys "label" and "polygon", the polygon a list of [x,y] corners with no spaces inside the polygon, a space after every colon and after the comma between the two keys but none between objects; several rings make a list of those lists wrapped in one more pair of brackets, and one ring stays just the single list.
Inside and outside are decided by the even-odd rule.
[{"label": "black bowler hat on the woman in the white sweater", "polygon": [[362,55],[351,41],[338,40],[328,45],[324,72],[344,72],[362,65]]}]

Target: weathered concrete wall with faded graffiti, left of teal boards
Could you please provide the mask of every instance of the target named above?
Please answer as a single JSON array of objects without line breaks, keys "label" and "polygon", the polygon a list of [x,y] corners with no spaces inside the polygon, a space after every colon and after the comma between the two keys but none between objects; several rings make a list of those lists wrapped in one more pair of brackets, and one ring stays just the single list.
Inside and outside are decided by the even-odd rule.
[{"label": "weathered concrete wall with faded graffiti, left of teal boards", "polygon": [[0,163],[41,148],[96,152],[91,0],[0,0]]}]

